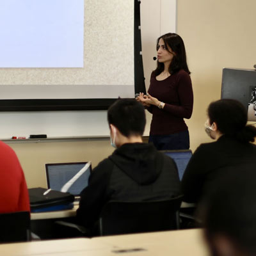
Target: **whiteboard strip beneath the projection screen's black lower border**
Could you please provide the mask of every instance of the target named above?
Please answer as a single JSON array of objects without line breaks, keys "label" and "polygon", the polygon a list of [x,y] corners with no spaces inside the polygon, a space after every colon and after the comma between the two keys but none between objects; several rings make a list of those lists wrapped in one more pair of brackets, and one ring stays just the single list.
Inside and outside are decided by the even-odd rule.
[{"label": "whiteboard strip beneath the projection screen's black lower border", "polygon": [[12,136],[109,136],[107,111],[0,112],[1,139]]}]

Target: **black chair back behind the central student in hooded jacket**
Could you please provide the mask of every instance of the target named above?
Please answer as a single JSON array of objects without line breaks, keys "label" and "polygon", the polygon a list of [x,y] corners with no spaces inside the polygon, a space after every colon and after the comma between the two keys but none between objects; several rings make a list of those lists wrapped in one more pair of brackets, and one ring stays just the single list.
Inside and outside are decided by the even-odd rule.
[{"label": "black chair back behind the central student in hooded jacket", "polygon": [[110,201],[100,214],[100,236],[179,229],[182,196],[145,202]]}]

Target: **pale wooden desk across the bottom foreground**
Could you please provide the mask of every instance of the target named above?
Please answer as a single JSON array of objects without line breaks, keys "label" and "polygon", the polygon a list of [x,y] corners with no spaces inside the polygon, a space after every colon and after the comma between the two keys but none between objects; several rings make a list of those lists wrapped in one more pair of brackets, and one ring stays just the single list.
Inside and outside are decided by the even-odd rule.
[{"label": "pale wooden desk across the bottom foreground", "polygon": [[202,230],[0,244],[4,256],[207,256]]}]

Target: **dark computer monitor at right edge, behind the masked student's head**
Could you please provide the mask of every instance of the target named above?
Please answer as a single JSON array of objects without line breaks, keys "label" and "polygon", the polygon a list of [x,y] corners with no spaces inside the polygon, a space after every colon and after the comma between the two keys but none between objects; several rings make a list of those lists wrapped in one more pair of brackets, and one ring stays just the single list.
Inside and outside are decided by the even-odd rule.
[{"label": "dark computer monitor at right edge, behind the masked student's head", "polygon": [[248,111],[248,121],[256,121],[256,70],[223,68],[221,99],[239,100]]}]

